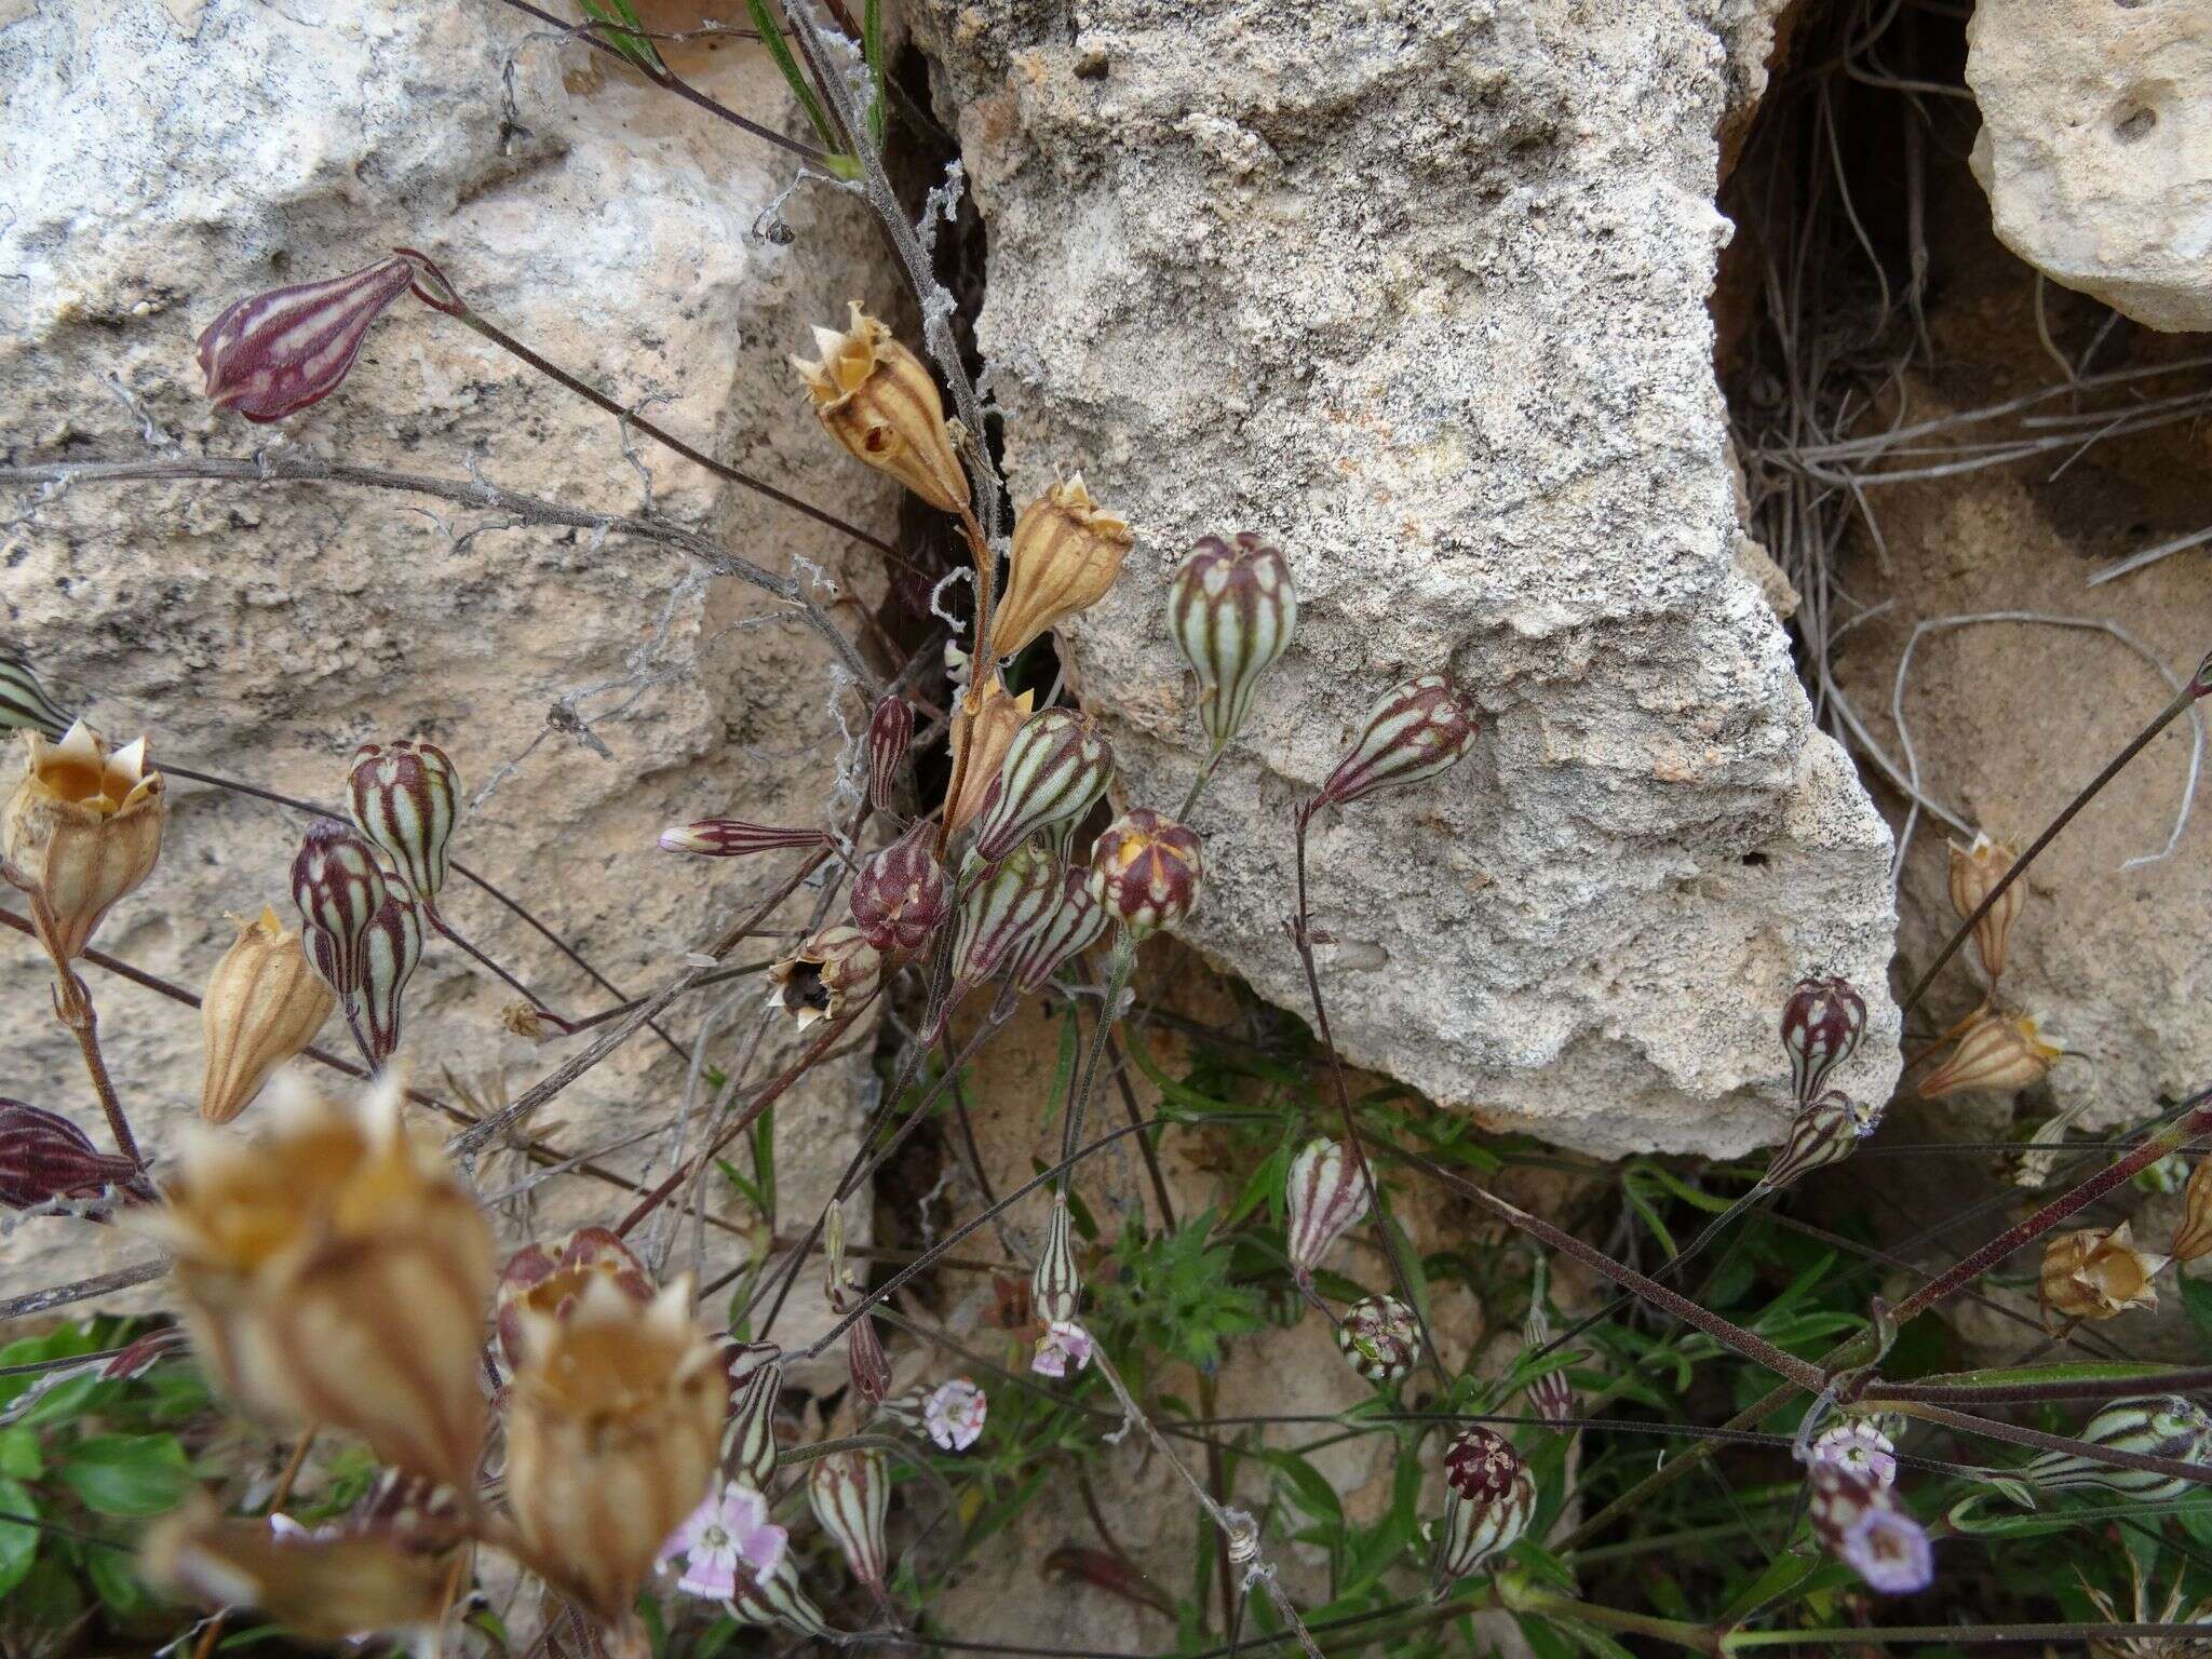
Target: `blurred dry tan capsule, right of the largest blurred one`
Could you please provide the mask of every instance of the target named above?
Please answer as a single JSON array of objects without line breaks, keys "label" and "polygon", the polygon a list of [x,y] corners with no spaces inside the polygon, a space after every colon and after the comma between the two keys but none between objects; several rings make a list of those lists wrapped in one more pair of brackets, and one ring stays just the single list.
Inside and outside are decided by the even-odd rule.
[{"label": "blurred dry tan capsule, right of the largest blurred one", "polygon": [[566,1318],[524,1323],[507,1504],[529,1564],[613,1624],[706,1498],[730,1398],[721,1356],[692,1323],[690,1281],[637,1303],[593,1276]]}]

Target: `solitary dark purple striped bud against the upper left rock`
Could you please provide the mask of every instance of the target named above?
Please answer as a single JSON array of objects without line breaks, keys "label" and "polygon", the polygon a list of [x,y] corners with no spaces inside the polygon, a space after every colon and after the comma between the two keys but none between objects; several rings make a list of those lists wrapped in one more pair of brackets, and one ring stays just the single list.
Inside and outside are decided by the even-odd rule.
[{"label": "solitary dark purple striped bud against the upper left rock", "polygon": [[208,403],[259,422],[321,403],[354,367],[369,323],[411,283],[414,265],[394,254],[345,276],[232,301],[199,334]]}]

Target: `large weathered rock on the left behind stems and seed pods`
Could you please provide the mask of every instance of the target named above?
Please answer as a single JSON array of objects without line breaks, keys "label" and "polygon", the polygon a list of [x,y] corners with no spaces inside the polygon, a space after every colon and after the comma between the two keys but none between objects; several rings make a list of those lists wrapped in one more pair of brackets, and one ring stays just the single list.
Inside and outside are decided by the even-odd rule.
[{"label": "large weathered rock on the left behind stems and seed pods", "polygon": [[[889,294],[889,279],[865,221],[836,197],[792,199],[790,246],[757,234],[792,175],[759,139],[491,4],[44,0],[13,15],[0,31],[9,460],[283,445],[453,478],[480,467],[509,489],[633,511],[644,480],[615,420],[411,301],[378,325],[334,398],[279,429],[199,398],[192,336],[230,296],[416,243],[557,363],[653,398],[657,420],[734,465],[878,533],[889,524],[889,491],[794,411],[783,367],[810,321],[843,314],[854,294]],[[737,106],[783,108],[774,69],[748,51],[686,69]],[[653,445],[637,458],[664,513],[759,564],[847,568],[841,535]],[[321,484],[77,484],[35,504],[13,489],[4,518],[4,628],[60,697],[108,730],[148,730],[157,759],[319,801],[338,796],[356,743],[436,739],[478,792],[456,854],[624,989],[664,980],[790,867],[790,856],[661,854],[664,823],[728,810],[810,823],[830,794],[841,732],[825,650],[781,602],[695,580],[670,549]],[[856,551],[849,568],[865,577],[869,557]],[[854,708],[847,697],[847,719]],[[230,938],[226,911],[274,900],[290,914],[301,821],[173,787],[161,865],[97,945],[197,989]],[[557,1006],[606,1006],[484,894],[456,880],[447,905]],[[75,1051],[44,1015],[40,960],[7,938],[0,1093],[97,1126]],[[197,1113],[197,1015],[91,980],[142,1135],[173,1146]],[[714,1004],[723,1062],[752,1029],[752,987]],[[445,1088],[449,1068],[500,1097],[544,1075],[564,1048],[504,1035],[507,1002],[458,951],[434,947],[409,991],[416,1077]],[[668,1029],[690,1042],[708,1006],[701,998]],[[325,1044],[347,1048],[341,1022]],[[832,1066],[781,1108],[787,1214],[812,1217],[843,1166],[865,1064]],[[679,1057],[633,1042],[535,1130],[571,1150],[604,1146],[666,1119],[684,1088]],[[608,1161],[635,1172],[648,1155],[666,1168],[655,1146]],[[495,1186],[518,1172],[482,1175]],[[540,1225],[573,1225],[619,1214],[628,1194],[566,1177],[535,1201]],[[88,1245],[91,1232],[22,1228],[7,1283],[146,1254],[113,1230]],[[710,1234],[710,1248],[721,1261],[728,1239]],[[688,1234],[677,1256],[688,1265]]]}]

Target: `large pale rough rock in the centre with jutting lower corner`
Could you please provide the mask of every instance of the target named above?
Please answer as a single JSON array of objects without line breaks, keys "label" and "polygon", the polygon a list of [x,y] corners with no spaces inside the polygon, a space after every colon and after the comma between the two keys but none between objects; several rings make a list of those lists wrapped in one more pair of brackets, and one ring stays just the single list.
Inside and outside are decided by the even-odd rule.
[{"label": "large pale rough rock in the centre with jutting lower corner", "polygon": [[1480,701],[1449,779],[1314,834],[1363,1064],[1548,1139],[1741,1150],[1803,971],[1869,989],[1889,836],[1812,730],[1739,540],[1705,296],[1717,126],[1774,7],[933,0],[989,226],[1020,493],[1082,469],[1141,546],[1075,628],[1130,799],[1197,721],[1161,624],[1206,531],[1283,544],[1294,650],[1197,812],[1188,927],[1303,1006],[1290,812],[1394,681]]}]

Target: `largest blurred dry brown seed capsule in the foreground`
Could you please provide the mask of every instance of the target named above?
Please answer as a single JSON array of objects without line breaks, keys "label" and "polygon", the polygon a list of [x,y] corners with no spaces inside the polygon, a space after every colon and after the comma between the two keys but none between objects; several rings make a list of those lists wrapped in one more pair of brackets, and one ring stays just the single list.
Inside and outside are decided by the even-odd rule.
[{"label": "largest blurred dry brown seed capsule in the foreground", "polygon": [[192,1345],[234,1396],[473,1486],[491,1228],[436,1137],[400,1124],[396,1088],[361,1110],[279,1102],[252,1141],[208,1135],[166,1197],[146,1228],[175,1256]]}]

